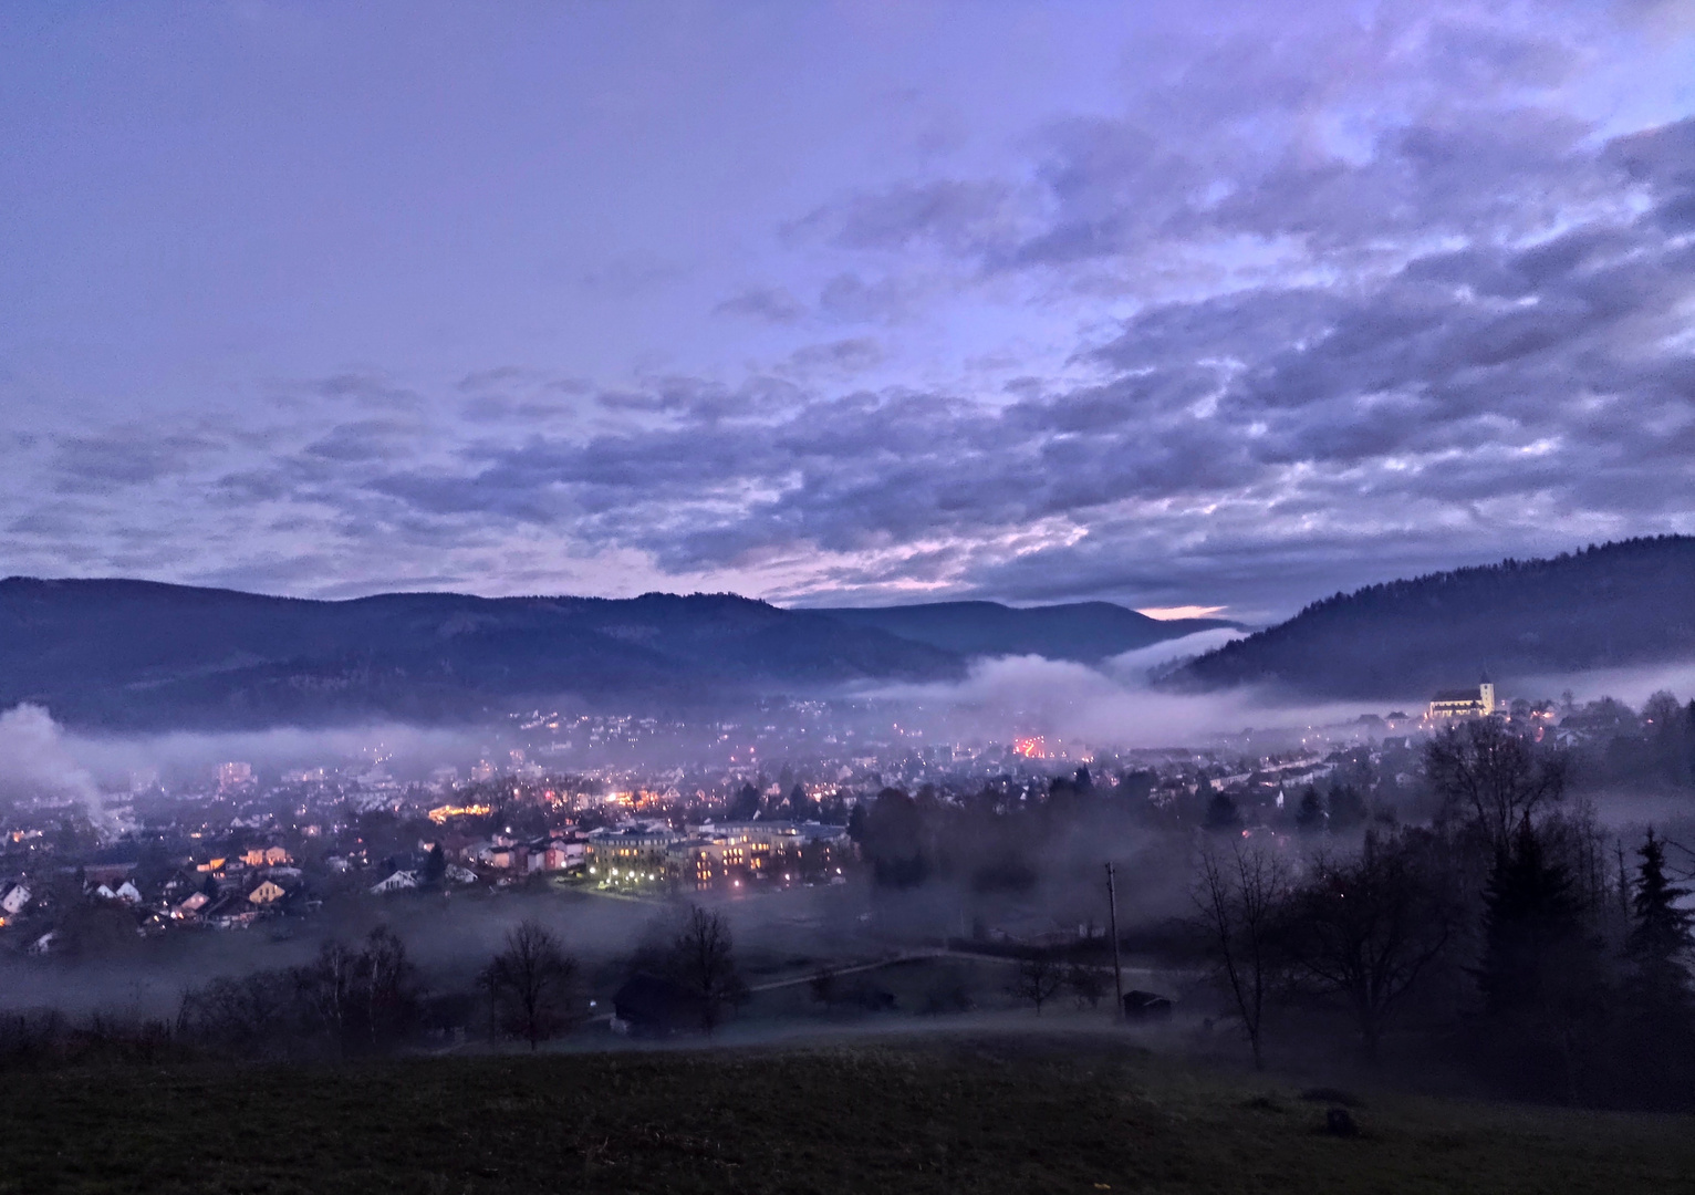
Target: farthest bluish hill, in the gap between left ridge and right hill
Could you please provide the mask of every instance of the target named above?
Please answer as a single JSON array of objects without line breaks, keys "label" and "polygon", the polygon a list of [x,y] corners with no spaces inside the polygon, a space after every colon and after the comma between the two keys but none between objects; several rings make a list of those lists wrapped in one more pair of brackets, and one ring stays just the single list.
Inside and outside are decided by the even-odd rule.
[{"label": "farthest bluish hill, in the gap between left ridge and right hill", "polygon": [[1149,619],[1110,602],[1019,610],[998,602],[932,602],[878,609],[815,609],[851,627],[885,631],[959,656],[1046,656],[1095,663],[1197,631],[1236,627],[1225,619]]}]

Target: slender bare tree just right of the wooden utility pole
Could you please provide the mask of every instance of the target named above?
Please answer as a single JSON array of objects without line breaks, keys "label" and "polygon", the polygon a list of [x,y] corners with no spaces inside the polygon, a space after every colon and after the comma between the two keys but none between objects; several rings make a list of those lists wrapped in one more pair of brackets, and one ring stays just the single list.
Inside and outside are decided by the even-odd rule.
[{"label": "slender bare tree just right of the wooden utility pole", "polygon": [[1276,934],[1288,892],[1288,866],[1264,848],[1236,841],[1229,854],[1209,849],[1200,856],[1195,907],[1219,983],[1242,1019],[1256,1070],[1264,1066],[1264,1010],[1278,976]]}]

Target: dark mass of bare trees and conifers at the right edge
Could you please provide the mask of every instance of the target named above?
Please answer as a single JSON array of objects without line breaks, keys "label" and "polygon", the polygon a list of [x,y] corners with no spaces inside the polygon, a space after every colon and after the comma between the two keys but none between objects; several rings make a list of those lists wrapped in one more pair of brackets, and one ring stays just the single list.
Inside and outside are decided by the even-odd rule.
[{"label": "dark mass of bare trees and conifers at the right edge", "polygon": [[1495,720],[1425,749],[1442,810],[1353,853],[1207,841],[1195,927],[1256,1064],[1278,1025],[1405,1022],[1503,1092],[1695,1103],[1695,915],[1653,829],[1627,863],[1563,805],[1566,759]]}]

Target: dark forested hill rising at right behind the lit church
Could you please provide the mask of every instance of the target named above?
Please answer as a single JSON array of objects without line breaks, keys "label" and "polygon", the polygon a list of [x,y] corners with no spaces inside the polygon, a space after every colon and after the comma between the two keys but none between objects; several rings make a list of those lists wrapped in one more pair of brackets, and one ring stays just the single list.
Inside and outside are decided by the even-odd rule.
[{"label": "dark forested hill rising at right behind the lit church", "polygon": [[1476,681],[1695,659],[1695,537],[1431,573],[1314,602],[1170,683],[1412,697]]}]

